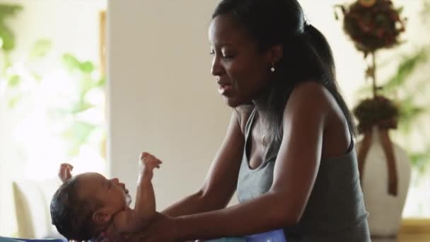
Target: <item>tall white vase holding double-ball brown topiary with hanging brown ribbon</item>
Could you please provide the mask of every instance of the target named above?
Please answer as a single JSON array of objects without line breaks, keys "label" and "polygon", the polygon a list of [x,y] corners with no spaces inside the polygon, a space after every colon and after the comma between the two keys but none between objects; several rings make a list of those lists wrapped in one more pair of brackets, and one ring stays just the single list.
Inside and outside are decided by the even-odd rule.
[{"label": "tall white vase holding double-ball brown topiary with hanging brown ribbon", "polygon": [[399,103],[386,96],[377,81],[376,54],[402,42],[406,19],[401,16],[402,8],[395,8],[391,0],[356,0],[338,5],[337,9],[343,16],[344,32],[364,54],[368,66],[365,76],[371,81],[371,88],[366,88],[371,89],[371,96],[353,110],[362,134],[356,151],[369,228],[372,236],[396,236],[409,188],[411,162],[407,152],[390,138],[390,130],[397,129],[402,113]]}]

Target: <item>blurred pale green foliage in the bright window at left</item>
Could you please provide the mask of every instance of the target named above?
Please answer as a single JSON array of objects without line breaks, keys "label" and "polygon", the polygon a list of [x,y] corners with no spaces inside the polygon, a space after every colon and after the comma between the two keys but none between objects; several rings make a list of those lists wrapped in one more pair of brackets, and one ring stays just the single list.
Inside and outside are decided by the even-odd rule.
[{"label": "blurred pale green foliage in the bright window at left", "polygon": [[[19,5],[0,5],[0,43],[1,43],[1,68],[0,84],[3,83],[4,95],[1,97],[11,112],[19,108],[19,103],[25,102],[28,93],[35,91],[37,86],[44,85],[45,69],[39,69],[41,64],[49,65],[48,56],[51,54],[52,42],[50,40],[37,40],[33,47],[28,50],[25,58],[16,62],[12,59],[13,51],[16,48],[16,36],[13,28],[7,24],[8,18],[15,17],[23,8]],[[56,57],[57,58],[57,57]],[[96,139],[105,139],[103,126],[82,120],[80,116],[88,110],[97,110],[98,115],[104,118],[104,103],[88,101],[88,95],[99,91],[104,92],[105,78],[98,67],[91,61],[82,61],[73,54],[64,53],[58,59],[62,63],[62,68],[71,81],[77,83],[77,91],[71,95],[72,102],[66,106],[57,107],[54,110],[47,110],[56,122],[66,122],[69,125],[63,127],[62,135],[69,142],[69,156],[76,156],[81,146],[93,142],[92,136]],[[18,71],[19,70],[19,71]],[[62,81],[60,78],[58,81]],[[24,91],[22,86],[30,86],[32,82],[33,89]],[[100,95],[99,95],[100,96]],[[99,118],[100,118],[99,117]],[[100,142],[100,152],[104,154],[103,140]]]}]

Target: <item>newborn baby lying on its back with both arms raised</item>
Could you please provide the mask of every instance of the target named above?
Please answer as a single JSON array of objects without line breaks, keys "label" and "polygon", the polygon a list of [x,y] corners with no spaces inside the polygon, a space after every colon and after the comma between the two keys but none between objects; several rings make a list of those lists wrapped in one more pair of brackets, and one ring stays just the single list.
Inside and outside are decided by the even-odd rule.
[{"label": "newborn baby lying on its back with both arms raised", "polygon": [[98,173],[72,177],[73,166],[62,164],[59,178],[63,184],[51,200],[52,224],[75,241],[115,238],[143,229],[156,213],[151,179],[160,164],[155,156],[141,154],[134,209],[129,207],[132,199],[128,190],[117,178],[108,180]]}]

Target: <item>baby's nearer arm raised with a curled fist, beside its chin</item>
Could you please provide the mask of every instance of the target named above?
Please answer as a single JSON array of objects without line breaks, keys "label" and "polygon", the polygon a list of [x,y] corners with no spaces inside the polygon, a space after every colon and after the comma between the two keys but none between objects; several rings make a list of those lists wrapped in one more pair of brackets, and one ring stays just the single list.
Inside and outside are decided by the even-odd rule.
[{"label": "baby's nearer arm raised with a curled fist, beside its chin", "polygon": [[160,168],[161,161],[155,156],[142,153],[139,161],[136,203],[134,209],[126,209],[115,215],[115,230],[120,233],[136,232],[142,229],[156,214],[156,200],[151,179],[153,169]]}]

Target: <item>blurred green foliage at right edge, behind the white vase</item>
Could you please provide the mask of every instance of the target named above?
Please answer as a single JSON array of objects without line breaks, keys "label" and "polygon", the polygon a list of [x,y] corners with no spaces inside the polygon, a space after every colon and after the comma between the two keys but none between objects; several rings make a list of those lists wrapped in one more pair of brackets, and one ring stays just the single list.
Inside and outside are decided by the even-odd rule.
[{"label": "blurred green foliage at right edge, behind the white vase", "polygon": [[[430,1],[422,1],[424,8],[420,15],[423,29],[430,28]],[[426,68],[430,64],[430,44],[424,42],[414,47],[412,52],[400,53],[380,64],[382,67],[395,62],[395,72],[379,86],[380,95],[395,100],[398,113],[398,127],[393,132],[393,139],[407,149],[414,169],[424,175],[430,165],[430,138],[422,132],[428,125],[430,99],[426,95],[430,88]],[[367,96],[371,88],[361,88],[358,96]],[[413,139],[419,139],[421,145],[414,145]]]}]

